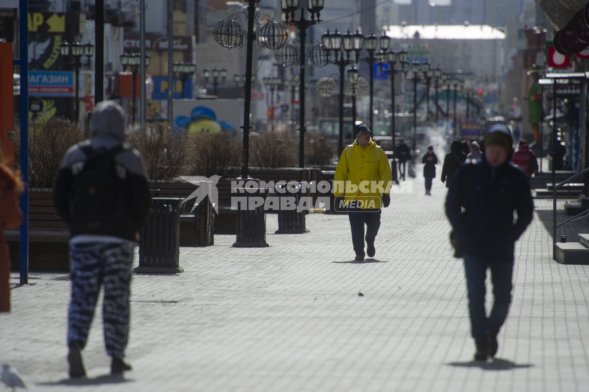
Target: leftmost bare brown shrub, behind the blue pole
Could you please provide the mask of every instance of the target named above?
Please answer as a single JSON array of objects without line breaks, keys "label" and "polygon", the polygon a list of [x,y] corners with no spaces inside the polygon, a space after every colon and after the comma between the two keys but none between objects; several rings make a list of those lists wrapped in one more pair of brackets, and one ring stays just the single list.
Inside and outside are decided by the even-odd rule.
[{"label": "leftmost bare brown shrub, behind the blue pole", "polygon": [[[65,118],[29,122],[29,182],[33,188],[51,188],[67,150],[84,140],[77,123]],[[21,129],[14,130],[14,164],[21,166]]]}]

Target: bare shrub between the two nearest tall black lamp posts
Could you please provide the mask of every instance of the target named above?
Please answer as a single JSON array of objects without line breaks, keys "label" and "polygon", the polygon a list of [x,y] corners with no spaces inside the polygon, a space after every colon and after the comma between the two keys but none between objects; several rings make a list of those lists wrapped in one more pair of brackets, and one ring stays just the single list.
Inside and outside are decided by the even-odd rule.
[{"label": "bare shrub between the two nearest tall black lamp posts", "polygon": [[293,167],[298,156],[298,140],[292,133],[269,131],[250,136],[250,165],[253,167]]}]

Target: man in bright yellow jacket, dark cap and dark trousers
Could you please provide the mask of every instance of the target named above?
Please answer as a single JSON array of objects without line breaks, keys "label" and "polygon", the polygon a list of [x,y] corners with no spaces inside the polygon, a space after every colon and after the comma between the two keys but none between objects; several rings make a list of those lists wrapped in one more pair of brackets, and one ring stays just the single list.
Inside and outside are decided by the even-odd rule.
[{"label": "man in bright yellow jacket, dark cap and dark trousers", "polygon": [[363,260],[364,239],[368,256],[376,253],[374,241],[380,227],[380,207],[391,203],[392,174],[385,151],[372,140],[368,127],[358,124],[354,131],[356,140],[343,150],[337,162],[333,194],[335,208],[348,209],[356,260]]}]

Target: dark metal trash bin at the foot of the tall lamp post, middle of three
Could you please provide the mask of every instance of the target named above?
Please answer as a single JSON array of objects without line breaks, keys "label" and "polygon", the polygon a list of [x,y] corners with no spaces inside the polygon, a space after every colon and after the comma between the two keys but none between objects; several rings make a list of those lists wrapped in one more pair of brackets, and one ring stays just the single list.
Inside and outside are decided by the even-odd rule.
[{"label": "dark metal trash bin at the foot of the tall lamp post, middle of three", "polygon": [[[234,197],[247,197],[248,205],[254,197],[268,197],[269,189],[248,189],[248,192],[232,192]],[[240,206],[243,207],[243,206]],[[239,208],[236,216],[236,248],[266,248],[266,209],[264,205],[254,209]]]}]

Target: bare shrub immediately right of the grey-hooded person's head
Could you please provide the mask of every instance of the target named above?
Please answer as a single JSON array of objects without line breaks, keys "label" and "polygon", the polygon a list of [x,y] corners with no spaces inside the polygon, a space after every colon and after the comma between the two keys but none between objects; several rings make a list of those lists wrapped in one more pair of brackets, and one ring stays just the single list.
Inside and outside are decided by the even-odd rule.
[{"label": "bare shrub immediately right of the grey-hooded person's head", "polygon": [[151,180],[173,180],[188,173],[193,149],[187,134],[166,123],[146,123],[127,134],[127,141],[145,161]]}]

